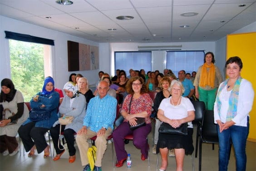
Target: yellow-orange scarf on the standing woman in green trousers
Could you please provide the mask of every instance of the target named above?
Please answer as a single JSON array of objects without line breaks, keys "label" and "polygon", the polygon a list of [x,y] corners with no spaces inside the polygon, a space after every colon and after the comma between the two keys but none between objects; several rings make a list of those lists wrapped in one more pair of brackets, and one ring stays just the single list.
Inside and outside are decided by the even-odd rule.
[{"label": "yellow-orange scarf on the standing woman in green trousers", "polygon": [[[208,68],[208,72],[207,72],[207,68]],[[206,63],[204,63],[202,65],[199,86],[200,87],[211,86],[212,88],[214,88],[214,79],[215,79],[214,64],[207,65]]]}]

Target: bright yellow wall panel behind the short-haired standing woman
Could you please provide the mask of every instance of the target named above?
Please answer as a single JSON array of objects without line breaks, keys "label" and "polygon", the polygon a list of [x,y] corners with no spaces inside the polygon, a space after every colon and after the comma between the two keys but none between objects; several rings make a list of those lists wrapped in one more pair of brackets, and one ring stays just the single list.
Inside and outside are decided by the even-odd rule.
[{"label": "bright yellow wall panel behind the short-haired standing woman", "polygon": [[226,59],[232,56],[241,58],[241,77],[249,80],[254,89],[248,140],[256,142],[256,32],[227,35]]}]

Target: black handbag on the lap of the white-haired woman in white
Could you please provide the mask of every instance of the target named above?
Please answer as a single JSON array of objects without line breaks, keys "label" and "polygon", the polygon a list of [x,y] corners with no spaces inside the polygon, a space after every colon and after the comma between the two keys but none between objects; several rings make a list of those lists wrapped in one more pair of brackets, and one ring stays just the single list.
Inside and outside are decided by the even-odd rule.
[{"label": "black handbag on the lap of the white-haired woman in white", "polygon": [[169,123],[162,122],[159,127],[159,133],[162,134],[176,134],[176,135],[187,135],[187,122],[182,123],[180,127],[174,128]]}]

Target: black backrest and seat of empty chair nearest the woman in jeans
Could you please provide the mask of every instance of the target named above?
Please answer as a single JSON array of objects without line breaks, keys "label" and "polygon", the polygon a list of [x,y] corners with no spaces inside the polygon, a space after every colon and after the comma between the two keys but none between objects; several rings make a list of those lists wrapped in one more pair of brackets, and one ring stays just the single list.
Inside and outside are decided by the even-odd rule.
[{"label": "black backrest and seat of empty chair nearest the woman in jeans", "polygon": [[219,143],[217,124],[214,123],[213,110],[207,110],[202,121],[202,141]]}]

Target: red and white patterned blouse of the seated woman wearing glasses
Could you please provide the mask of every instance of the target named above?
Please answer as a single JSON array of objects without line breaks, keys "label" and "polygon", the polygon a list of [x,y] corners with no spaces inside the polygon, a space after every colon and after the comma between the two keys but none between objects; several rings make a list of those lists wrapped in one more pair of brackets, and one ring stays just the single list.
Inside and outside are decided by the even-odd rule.
[{"label": "red and white patterned blouse of the seated woman wearing glasses", "polygon": [[[132,94],[126,96],[123,101],[121,112],[125,111],[129,113],[130,101],[132,98]],[[151,115],[152,109],[152,99],[150,98],[148,93],[143,93],[139,98],[132,99],[130,114],[135,114],[138,112],[146,111],[148,113],[148,117],[145,118],[146,123],[151,123],[149,116]],[[127,119],[124,119],[125,122],[128,122]]]}]

